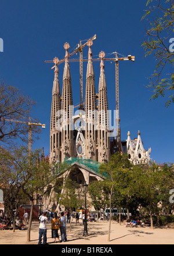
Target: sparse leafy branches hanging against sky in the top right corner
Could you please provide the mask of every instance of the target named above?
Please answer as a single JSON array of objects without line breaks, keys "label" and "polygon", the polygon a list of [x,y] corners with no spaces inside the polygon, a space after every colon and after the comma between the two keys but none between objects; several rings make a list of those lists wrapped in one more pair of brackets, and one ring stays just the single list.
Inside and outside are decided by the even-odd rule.
[{"label": "sparse leafy branches hanging against sky in the top right corner", "polygon": [[147,55],[153,54],[157,65],[150,77],[147,87],[153,89],[150,99],[168,97],[165,106],[174,103],[174,49],[169,45],[174,41],[174,4],[173,0],[148,0],[146,10],[142,19],[147,19],[149,27],[146,30],[146,38],[143,47]]}]

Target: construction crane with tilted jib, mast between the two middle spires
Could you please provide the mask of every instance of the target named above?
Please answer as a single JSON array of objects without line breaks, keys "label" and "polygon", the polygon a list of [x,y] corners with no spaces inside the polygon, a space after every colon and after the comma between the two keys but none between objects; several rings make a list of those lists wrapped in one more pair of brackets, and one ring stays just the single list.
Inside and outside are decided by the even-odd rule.
[{"label": "construction crane with tilted jib, mast between the two middle spires", "polygon": [[[97,35],[93,35],[93,37],[89,38],[90,41],[93,41],[93,40],[96,40],[97,38]],[[75,50],[69,54],[69,57],[71,57],[72,55],[74,54],[77,54],[77,52],[79,52],[79,73],[80,73],[80,104],[79,104],[79,109],[83,109],[84,110],[84,99],[83,99],[83,48],[88,44],[88,41],[89,40],[81,40],[79,41],[79,43],[77,44],[77,47],[75,48]],[[86,41],[85,44],[82,44],[82,41]],[[59,61],[59,59],[57,57],[55,57],[53,59],[53,61],[45,61],[45,63],[55,63],[55,66],[53,67],[56,67],[56,65],[60,65],[62,62],[65,61],[65,58],[64,59],[61,59]],[[69,60],[71,62],[71,60]],[[52,69],[53,69],[52,67]]]}]

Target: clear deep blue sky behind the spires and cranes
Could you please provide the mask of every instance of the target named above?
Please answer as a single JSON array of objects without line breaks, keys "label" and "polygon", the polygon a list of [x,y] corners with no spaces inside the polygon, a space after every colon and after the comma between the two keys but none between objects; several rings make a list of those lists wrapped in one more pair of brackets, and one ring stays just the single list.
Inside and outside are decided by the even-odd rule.
[{"label": "clear deep blue sky behind the spires and cranes", "polygon": [[[117,51],[135,55],[135,62],[119,62],[119,115],[121,139],[131,138],[140,130],[146,150],[151,147],[151,158],[158,163],[174,162],[173,109],[165,108],[165,98],[149,101],[151,90],[146,88],[148,77],[155,69],[153,55],[145,58],[141,47],[146,31],[142,19],[146,0],[89,0],[89,1],[3,1],[0,9],[0,79],[29,95],[37,106],[32,118],[45,123],[40,139],[32,148],[44,147],[49,155],[50,108],[54,72],[52,63],[45,60],[64,58],[65,42],[70,51],[80,41],[97,35],[93,42],[93,58],[100,51]],[[84,48],[88,56],[88,47]],[[78,55],[79,56],[79,55]],[[74,56],[74,58],[78,58]],[[111,58],[113,55],[109,55]],[[120,55],[118,55],[120,56]],[[100,63],[94,62],[95,84],[98,91]],[[115,65],[105,62],[109,108],[115,109]],[[64,64],[59,65],[60,90]],[[73,104],[79,104],[79,63],[70,63]],[[85,95],[86,63],[84,63]]]}]

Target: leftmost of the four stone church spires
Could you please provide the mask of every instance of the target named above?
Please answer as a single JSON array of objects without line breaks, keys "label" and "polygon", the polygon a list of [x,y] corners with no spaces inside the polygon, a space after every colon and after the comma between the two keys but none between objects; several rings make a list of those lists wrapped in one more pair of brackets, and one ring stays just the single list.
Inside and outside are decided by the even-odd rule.
[{"label": "leftmost of the four stone church spires", "polygon": [[59,86],[59,69],[57,67],[58,59],[55,58],[55,79],[52,89],[52,108],[50,115],[50,162],[60,161],[60,131],[56,124],[58,120],[57,112],[61,110],[60,86]]}]

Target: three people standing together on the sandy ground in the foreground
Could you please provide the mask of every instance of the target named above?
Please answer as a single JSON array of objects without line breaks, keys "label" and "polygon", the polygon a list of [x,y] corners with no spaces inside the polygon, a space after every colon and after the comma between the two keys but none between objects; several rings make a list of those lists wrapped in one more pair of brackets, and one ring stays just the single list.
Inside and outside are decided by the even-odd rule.
[{"label": "three people standing together on the sandy ground in the foreground", "polygon": [[[46,237],[46,223],[48,221],[48,212],[44,212],[41,216],[39,216],[39,242],[38,244],[42,244],[42,236],[43,236],[43,244],[47,244],[47,237]],[[66,234],[66,217],[64,216],[64,212],[61,212],[60,218],[56,212],[53,214],[53,219],[51,221],[52,224],[52,238],[55,239],[54,242],[56,243],[56,239],[59,242],[67,241],[67,234]],[[60,229],[61,240],[59,239],[58,230]]]}]

